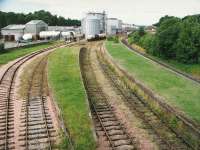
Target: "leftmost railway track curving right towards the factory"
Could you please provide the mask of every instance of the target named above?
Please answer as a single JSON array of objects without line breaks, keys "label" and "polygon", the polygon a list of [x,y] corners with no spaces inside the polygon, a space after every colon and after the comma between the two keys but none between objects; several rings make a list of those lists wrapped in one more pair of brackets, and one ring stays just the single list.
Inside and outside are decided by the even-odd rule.
[{"label": "leftmost railway track curving right towards the factory", "polygon": [[18,69],[28,60],[43,52],[57,48],[51,46],[26,55],[6,69],[0,79],[0,149],[15,149],[14,147],[14,80]]}]

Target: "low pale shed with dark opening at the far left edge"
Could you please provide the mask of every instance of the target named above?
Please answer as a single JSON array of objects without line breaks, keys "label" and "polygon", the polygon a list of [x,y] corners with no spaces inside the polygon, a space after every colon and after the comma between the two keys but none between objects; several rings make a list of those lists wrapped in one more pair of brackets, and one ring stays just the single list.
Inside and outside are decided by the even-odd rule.
[{"label": "low pale shed with dark opening at the far left edge", "polygon": [[5,41],[19,41],[25,33],[25,25],[8,25],[1,29]]}]

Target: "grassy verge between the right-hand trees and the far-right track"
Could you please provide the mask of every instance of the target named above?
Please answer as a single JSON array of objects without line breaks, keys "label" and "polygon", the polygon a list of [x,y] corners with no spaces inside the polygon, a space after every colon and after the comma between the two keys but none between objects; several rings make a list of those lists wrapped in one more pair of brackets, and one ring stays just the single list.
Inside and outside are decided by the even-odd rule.
[{"label": "grassy verge between the right-hand trees and the far-right track", "polygon": [[[146,53],[146,50],[144,48],[142,48],[136,44],[132,44],[131,46],[142,53]],[[158,58],[155,56],[151,56],[151,57],[154,59],[157,59],[159,61],[163,61],[164,63],[171,65],[180,71],[183,71],[185,73],[192,75],[193,77],[195,77],[197,79],[200,79],[200,64],[183,64],[183,63],[179,63],[175,60],[164,60],[164,59],[161,59],[161,58]]]}]

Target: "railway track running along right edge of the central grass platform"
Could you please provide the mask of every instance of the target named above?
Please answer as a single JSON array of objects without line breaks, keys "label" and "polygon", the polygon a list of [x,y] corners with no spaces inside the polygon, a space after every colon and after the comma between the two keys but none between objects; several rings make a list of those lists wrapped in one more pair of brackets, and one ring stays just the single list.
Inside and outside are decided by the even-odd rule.
[{"label": "railway track running along right edge of the central grass platform", "polygon": [[115,112],[107,101],[105,93],[99,87],[89,60],[89,50],[82,48],[80,64],[84,85],[87,90],[97,136],[103,135],[109,142],[108,149],[135,149],[134,140],[115,116]]}]

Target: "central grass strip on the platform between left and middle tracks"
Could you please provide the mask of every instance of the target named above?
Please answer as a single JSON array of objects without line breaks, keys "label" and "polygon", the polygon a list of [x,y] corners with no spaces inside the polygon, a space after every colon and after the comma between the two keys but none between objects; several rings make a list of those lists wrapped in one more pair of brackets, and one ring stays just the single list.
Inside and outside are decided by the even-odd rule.
[{"label": "central grass strip on the platform between left and middle tracks", "polygon": [[49,59],[49,81],[77,150],[95,149],[89,108],[79,68],[79,48],[56,50]]}]

